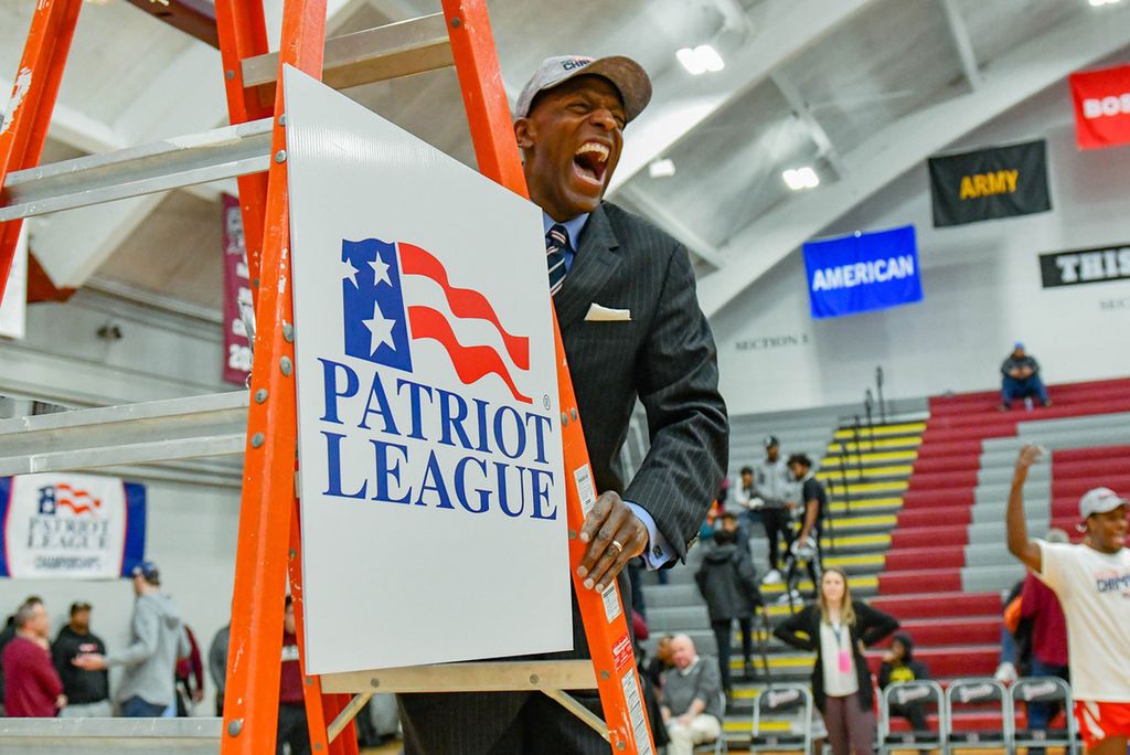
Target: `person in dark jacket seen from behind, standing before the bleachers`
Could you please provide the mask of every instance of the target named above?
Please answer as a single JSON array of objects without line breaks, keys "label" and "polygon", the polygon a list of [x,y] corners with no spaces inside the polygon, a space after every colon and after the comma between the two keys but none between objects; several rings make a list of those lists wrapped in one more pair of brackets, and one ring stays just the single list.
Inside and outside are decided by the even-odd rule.
[{"label": "person in dark jacket seen from behind, standing before the bleachers", "polygon": [[703,557],[703,564],[695,574],[698,591],[706,600],[711,628],[718,641],[718,662],[722,671],[722,688],[729,695],[730,678],[730,632],[733,621],[741,627],[741,656],[748,678],[753,671],[754,637],[753,615],[762,605],[762,593],[757,589],[757,573],[748,552],[737,545],[738,533],[731,529],[714,531],[714,547]]}]

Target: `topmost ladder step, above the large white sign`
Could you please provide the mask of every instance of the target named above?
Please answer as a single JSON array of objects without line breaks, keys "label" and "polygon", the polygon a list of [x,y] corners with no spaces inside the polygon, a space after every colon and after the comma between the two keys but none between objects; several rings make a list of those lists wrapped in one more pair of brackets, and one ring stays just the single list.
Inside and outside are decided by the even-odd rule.
[{"label": "topmost ladder step, above the large white sign", "polygon": [[[446,21],[432,14],[327,40],[322,81],[347,89],[453,64]],[[273,88],[279,55],[247,58],[242,69],[243,86]]]}]

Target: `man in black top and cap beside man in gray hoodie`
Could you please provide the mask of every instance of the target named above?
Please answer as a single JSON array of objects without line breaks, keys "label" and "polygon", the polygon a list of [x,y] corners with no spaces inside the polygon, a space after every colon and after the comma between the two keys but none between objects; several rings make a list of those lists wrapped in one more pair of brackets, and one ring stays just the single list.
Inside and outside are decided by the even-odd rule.
[{"label": "man in black top and cap beside man in gray hoodie", "polygon": [[110,672],[87,671],[75,666],[84,653],[106,653],[106,643],[90,631],[90,604],[71,604],[70,624],[59,630],[51,644],[51,660],[63,680],[63,694],[69,701],[59,714],[63,718],[96,719],[114,714],[110,704]]}]

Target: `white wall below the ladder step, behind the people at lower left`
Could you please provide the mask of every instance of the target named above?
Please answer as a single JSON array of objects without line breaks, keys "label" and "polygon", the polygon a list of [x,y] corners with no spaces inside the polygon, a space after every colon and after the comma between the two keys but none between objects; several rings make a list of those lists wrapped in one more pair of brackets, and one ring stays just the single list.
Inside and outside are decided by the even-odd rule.
[{"label": "white wall below the ladder step, behind the people at lower left", "polygon": [[[147,485],[146,556],[157,563],[162,589],[172,596],[192,627],[205,660],[216,631],[228,622],[234,581],[238,493],[186,485]],[[68,621],[75,600],[94,609],[90,624],[108,651],[130,640],[133,590],[129,580],[0,580],[0,619],[28,595],[43,597],[51,616],[51,637]],[[111,676],[111,694],[118,672]],[[211,714],[212,686],[206,678],[200,714]]]}]

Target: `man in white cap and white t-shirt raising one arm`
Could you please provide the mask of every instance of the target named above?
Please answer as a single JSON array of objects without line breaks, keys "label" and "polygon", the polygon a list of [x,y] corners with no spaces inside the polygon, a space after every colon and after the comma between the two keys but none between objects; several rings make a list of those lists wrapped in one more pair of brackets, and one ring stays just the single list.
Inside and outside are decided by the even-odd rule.
[{"label": "man in white cap and white t-shirt raising one arm", "polygon": [[1130,739],[1130,549],[1127,501],[1096,487],[1079,500],[1081,545],[1029,540],[1024,481],[1040,457],[1020,449],[1008,496],[1008,549],[1054,590],[1067,616],[1068,666],[1087,753],[1125,755]]}]

